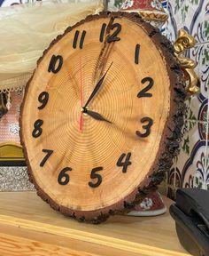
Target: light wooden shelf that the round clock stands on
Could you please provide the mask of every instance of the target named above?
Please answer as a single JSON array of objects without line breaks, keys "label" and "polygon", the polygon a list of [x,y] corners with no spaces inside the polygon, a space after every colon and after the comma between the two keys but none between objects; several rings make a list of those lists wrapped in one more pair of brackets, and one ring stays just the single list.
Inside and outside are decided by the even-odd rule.
[{"label": "light wooden shelf that the round clock stands on", "polygon": [[[172,201],[164,198],[167,208]],[[167,212],[152,218],[112,216],[101,225],[53,211],[35,192],[0,193],[1,256],[188,256]]]}]

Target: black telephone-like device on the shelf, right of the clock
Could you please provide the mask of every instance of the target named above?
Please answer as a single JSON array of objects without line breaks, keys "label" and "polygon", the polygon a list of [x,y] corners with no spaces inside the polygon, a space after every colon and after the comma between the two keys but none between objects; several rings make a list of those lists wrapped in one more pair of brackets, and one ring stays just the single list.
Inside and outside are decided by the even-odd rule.
[{"label": "black telephone-like device on the shelf, right of the clock", "polygon": [[209,256],[209,191],[183,188],[170,206],[182,246],[195,256]]}]

